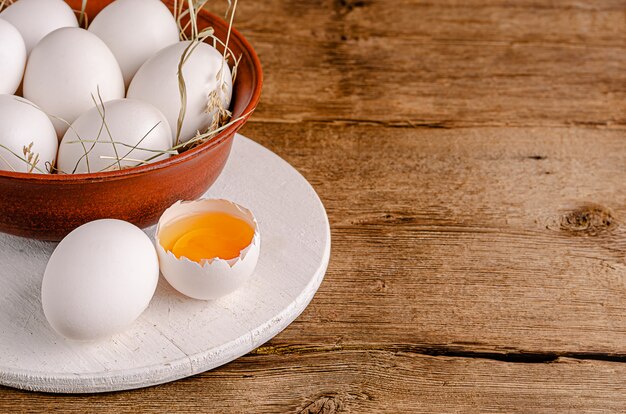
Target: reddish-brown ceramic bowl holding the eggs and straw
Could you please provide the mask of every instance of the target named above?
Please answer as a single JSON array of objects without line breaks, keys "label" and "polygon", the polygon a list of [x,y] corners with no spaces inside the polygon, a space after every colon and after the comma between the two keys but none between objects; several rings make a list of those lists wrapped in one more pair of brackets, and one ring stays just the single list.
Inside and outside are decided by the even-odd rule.
[{"label": "reddish-brown ceramic bowl holding the eggs and straw", "polygon": [[[87,14],[95,16],[111,1],[89,0]],[[74,9],[81,0],[70,0]],[[200,28],[213,26],[226,38],[228,24],[206,12]],[[249,114],[261,94],[263,74],[252,46],[236,30],[230,47],[241,55],[234,85],[233,119]],[[235,132],[246,119],[222,131],[212,141],[169,159],[122,171],[94,174],[25,174],[0,171],[0,231],[42,240],[60,240],[92,220],[117,218],[140,227],[157,222],[178,200],[201,196],[215,182],[230,153]]]}]

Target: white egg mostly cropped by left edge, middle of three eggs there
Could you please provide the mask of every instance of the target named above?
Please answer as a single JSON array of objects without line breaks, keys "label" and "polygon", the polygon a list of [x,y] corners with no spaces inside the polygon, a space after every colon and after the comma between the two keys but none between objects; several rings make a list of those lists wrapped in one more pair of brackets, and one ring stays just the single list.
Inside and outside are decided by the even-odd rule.
[{"label": "white egg mostly cropped by left edge, middle of three eggs there", "polygon": [[0,19],[0,94],[13,94],[20,86],[26,66],[26,46],[20,32]]}]

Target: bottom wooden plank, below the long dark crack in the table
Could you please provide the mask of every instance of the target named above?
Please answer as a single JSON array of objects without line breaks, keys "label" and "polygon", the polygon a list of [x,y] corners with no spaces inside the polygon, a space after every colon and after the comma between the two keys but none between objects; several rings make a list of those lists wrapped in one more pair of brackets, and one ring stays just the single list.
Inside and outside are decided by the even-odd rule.
[{"label": "bottom wooden plank, below the long dark crack in the table", "polygon": [[[264,354],[264,351],[269,351]],[[78,398],[2,389],[8,412],[623,412],[626,364],[511,363],[406,350],[260,350],[179,382]]]}]

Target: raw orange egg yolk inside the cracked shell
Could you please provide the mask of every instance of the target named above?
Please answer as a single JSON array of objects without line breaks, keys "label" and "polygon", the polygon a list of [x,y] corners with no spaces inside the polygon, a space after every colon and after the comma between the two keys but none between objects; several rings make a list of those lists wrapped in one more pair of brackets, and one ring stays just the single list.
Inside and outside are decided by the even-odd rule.
[{"label": "raw orange egg yolk inside the cracked shell", "polygon": [[[170,227],[170,226],[168,226]],[[226,213],[211,212],[178,220],[171,224],[175,234],[168,248],[177,258],[194,262],[219,257],[234,259],[252,243],[254,228],[244,220]]]}]

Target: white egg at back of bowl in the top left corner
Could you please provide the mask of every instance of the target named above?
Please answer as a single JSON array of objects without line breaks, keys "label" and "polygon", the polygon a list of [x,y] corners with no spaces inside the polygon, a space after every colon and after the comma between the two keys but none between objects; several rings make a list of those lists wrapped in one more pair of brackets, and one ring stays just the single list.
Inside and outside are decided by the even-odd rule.
[{"label": "white egg at back of bowl in the top left corner", "polygon": [[19,0],[0,17],[20,31],[28,53],[48,33],[61,27],[78,27],[74,11],[63,0]]}]

